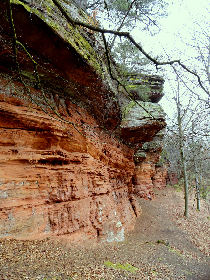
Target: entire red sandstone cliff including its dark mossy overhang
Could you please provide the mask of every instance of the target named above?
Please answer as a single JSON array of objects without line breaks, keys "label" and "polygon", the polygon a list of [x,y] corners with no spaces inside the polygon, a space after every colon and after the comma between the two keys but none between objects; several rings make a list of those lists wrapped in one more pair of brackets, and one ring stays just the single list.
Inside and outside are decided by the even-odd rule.
[{"label": "entire red sandstone cliff including its dark mossy overhang", "polygon": [[[72,17],[89,22],[73,2],[63,4]],[[135,95],[155,120],[117,94],[99,34],[74,29],[51,0],[13,0],[17,41],[39,64],[45,97],[68,121],[61,122],[17,46],[22,79],[34,101],[27,94],[15,71],[4,2],[0,9],[0,236],[123,241],[124,230],[141,214],[134,194],[147,199],[151,176],[157,175],[161,147],[150,144],[165,126],[165,113],[156,104],[164,80],[142,80],[148,101],[155,103]],[[130,80],[139,81],[142,75],[137,76]],[[134,153],[142,160],[135,160],[136,167]]]}]

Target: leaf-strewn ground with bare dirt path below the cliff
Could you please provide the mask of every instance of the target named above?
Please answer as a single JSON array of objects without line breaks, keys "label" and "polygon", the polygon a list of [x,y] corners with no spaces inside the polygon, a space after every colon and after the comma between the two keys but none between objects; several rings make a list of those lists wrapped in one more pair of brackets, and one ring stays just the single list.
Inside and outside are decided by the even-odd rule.
[{"label": "leaf-strewn ground with bare dirt path below the cliff", "polygon": [[192,198],[185,218],[183,190],[175,190],[167,186],[155,189],[152,201],[138,199],[143,213],[118,244],[82,246],[57,237],[0,239],[0,279],[209,280],[209,212],[203,201],[201,211],[196,206],[191,210]]}]

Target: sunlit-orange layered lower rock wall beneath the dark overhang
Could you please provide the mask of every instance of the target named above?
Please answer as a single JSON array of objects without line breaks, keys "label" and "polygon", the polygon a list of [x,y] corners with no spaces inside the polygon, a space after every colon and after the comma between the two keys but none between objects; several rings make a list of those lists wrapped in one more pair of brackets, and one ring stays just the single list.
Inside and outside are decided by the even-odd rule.
[{"label": "sunlit-orange layered lower rock wall beneath the dark overhang", "polygon": [[[76,105],[70,118],[67,102],[56,103],[67,120],[97,126]],[[1,95],[0,115],[0,235],[123,240],[123,229],[141,213],[132,194],[133,150],[101,129],[77,131],[29,109],[10,85]]]}]

